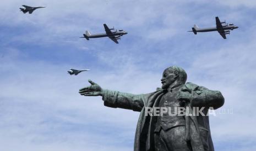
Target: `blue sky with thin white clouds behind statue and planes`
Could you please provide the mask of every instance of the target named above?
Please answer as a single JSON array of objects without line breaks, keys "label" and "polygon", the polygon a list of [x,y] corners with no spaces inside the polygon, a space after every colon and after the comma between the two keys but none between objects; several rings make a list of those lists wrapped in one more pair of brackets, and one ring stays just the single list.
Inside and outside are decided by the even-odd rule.
[{"label": "blue sky with thin white clouds behind statue and planes", "polygon": [[[46,5],[33,14],[19,7]],[[255,150],[255,1],[18,1],[0,5],[0,150],[132,150],[139,113],[83,97],[88,79],[102,88],[143,94],[177,65],[188,82],[220,90],[210,117],[216,150]],[[227,39],[194,35],[215,16],[239,28]],[[78,38],[102,24],[128,32],[119,44]],[[78,76],[68,68],[89,68]],[[220,110],[216,111],[221,113]]]}]

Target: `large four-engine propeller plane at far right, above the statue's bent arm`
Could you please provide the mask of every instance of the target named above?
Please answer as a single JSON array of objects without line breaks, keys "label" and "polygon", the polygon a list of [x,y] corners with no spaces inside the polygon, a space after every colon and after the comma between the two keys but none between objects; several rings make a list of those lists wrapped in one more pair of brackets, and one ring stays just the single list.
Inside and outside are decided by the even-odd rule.
[{"label": "large four-engine propeller plane at far right, above the statue's bent arm", "polygon": [[216,20],[216,27],[198,28],[197,25],[194,25],[194,27],[192,27],[192,31],[188,31],[188,32],[194,32],[194,34],[197,34],[197,32],[218,31],[220,33],[220,35],[224,39],[226,39],[227,38],[226,34],[230,34],[230,30],[238,28],[237,26],[234,26],[234,24],[226,24],[226,21],[220,22],[220,19],[218,17],[215,17],[215,20]]}]

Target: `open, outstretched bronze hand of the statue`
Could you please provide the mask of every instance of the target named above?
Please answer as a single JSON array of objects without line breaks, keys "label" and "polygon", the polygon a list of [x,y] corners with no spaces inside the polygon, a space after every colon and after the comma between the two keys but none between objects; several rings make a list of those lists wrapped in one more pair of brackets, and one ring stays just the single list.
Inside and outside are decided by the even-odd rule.
[{"label": "open, outstretched bronze hand of the statue", "polygon": [[79,90],[80,95],[84,95],[84,96],[102,96],[103,95],[103,90],[101,89],[100,85],[92,82],[92,80],[88,80],[88,82],[91,85],[80,89]]}]

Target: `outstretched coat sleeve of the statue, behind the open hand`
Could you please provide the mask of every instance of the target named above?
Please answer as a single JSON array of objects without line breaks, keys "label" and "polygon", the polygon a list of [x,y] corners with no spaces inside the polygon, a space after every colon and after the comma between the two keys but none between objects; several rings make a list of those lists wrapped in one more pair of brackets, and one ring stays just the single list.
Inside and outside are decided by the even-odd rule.
[{"label": "outstretched coat sleeve of the statue, behind the open hand", "polygon": [[140,112],[144,107],[146,97],[148,97],[146,94],[134,95],[119,91],[104,90],[102,100],[104,101],[104,106],[107,107],[132,109],[133,111]]}]

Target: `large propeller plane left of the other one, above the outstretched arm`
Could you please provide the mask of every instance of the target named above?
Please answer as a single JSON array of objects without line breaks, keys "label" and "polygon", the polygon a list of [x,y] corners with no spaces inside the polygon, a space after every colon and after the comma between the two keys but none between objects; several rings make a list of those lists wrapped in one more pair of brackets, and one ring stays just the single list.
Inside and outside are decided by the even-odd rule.
[{"label": "large propeller plane left of the other one, above the outstretched arm", "polygon": [[116,30],[116,31],[112,31],[115,30],[115,28],[108,28],[106,24],[104,24],[104,28],[106,33],[99,33],[99,34],[90,34],[89,31],[85,31],[84,37],[80,37],[80,38],[86,38],[87,40],[89,40],[89,38],[100,38],[100,37],[108,37],[111,40],[113,40],[115,43],[118,44],[118,39],[121,39],[121,36],[123,36],[124,34],[127,34],[127,32],[123,31],[123,30]]}]

